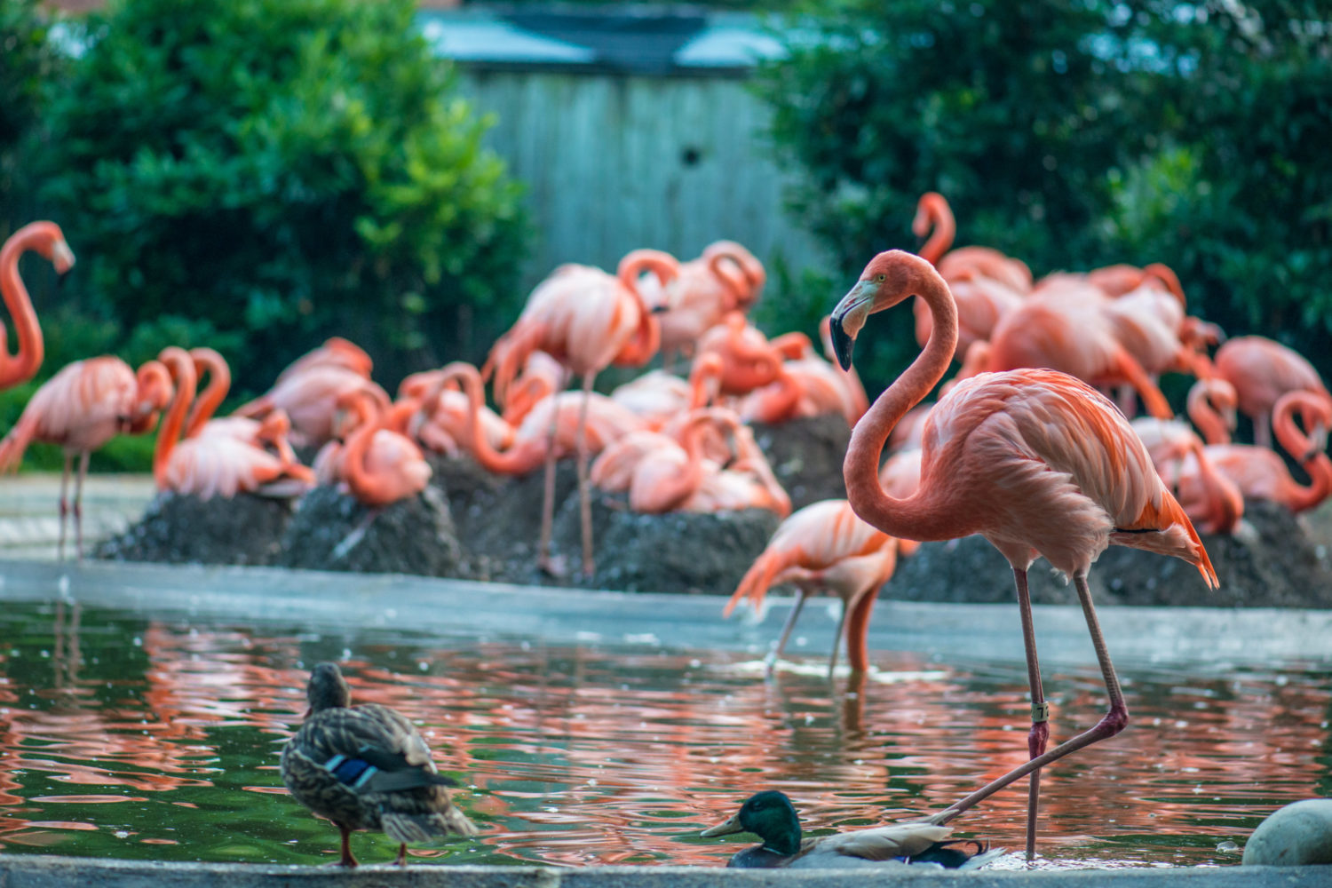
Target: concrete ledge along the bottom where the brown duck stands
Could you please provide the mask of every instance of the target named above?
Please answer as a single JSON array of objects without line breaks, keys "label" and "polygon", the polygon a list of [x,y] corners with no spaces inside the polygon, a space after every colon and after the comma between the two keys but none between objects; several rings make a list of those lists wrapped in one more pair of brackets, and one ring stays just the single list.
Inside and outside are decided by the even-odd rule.
[{"label": "concrete ledge along the bottom where the brown duck stands", "polygon": [[[278,885],[336,884],[342,888],[705,888],[717,884],[791,884],[807,888],[863,888],[866,869],[714,869],[703,867],[449,867],[413,864],[361,867],[342,871],[328,867],[278,867],[225,863],[161,863],[100,860],[47,855],[0,855],[0,885],[4,888],[149,888],[170,879],[173,888],[276,888]],[[1022,888],[1023,885],[1072,885],[1114,888],[1316,888],[1332,880],[1332,867],[1207,867],[1072,871],[948,872],[932,868],[884,864],[874,881],[894,885],[967,885],[968,888]],[[891,876],[891,879],[890,879]]]}]

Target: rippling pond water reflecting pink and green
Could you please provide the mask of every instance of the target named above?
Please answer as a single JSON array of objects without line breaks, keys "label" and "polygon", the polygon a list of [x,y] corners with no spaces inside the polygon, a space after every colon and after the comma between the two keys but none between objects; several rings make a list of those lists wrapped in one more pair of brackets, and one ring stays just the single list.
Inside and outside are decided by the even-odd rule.
[{"label": "rippling pond water reflecting pink and green", "polygon": [[[706,840],[759,788],[806,829],[944,807],[1026,758],[1020,663],[875,652],[859,687],[797,650],[765,683],[751,655],[651,644],[298,626],[186,624],[71,603],[0,614],[0,851],[155,860],[326,863],[337,831],[277,770],[308,667],[342,663],[357,702],[414,719],[472,840],[410,851],[476,864],[721,865]],[[1122,668],[1134,722],[1047,770],[1042,864],[1233,864],[1217,849],[1273,808],[1332,792],[1332,668],[1284,663]],[[1104,707],[1095,668],[1052,670],[1052,740]],[[1022,847],[1026,784],[954,823]],[[394,844],[357,833],[362,861]],[[999,861],[1018,867],[1018,855]]]}]

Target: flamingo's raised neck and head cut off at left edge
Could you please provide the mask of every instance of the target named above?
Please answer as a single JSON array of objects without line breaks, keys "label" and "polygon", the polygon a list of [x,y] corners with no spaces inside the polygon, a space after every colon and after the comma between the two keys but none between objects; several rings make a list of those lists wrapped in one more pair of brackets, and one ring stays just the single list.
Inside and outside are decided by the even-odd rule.
[{"label": "flamingo's raised neck and head cut off at left edge", "polygon": [[45,354],[37,313],[32,309],[28,288],[19,277],[19,257],[28,250],[51,262],[60,276],[75,265],[75,254],[55,222],[28,222],[0,246],[0,296],[13,318],[17,338],[15,353],[9,354],[8,337],[0,322],[0,389],[16,386],[36,375]]}]

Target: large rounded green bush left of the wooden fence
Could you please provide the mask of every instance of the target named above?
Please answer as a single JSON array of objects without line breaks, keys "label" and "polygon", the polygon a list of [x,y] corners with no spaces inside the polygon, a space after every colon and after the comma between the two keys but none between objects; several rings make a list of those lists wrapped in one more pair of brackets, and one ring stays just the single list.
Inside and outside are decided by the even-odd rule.
[{"label": "large rounded green bush left of the wooden fence", "polygon": [[189,318],[252,389],[332,333],[390,379],[478,347],[454,328],[517,298],[519,194],[413,11],[121,0],[87,20],[44,194],[132,347]]}]

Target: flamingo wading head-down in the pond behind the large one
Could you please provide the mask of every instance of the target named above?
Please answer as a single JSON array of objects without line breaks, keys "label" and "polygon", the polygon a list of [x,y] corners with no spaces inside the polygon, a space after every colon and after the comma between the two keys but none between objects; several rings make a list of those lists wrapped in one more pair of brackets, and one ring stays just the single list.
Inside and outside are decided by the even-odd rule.
[{"label": "flamingo wading head-down in the pond behind the large one", "polygon": [[778,525],[763,553],[741,579],[735,592],[722,610],[730,616],[742,599],[749,599],[758,610],[767,590],[781,583],[794,583],[795,604],[782,626],[777,644],[765,659],[765,672],[773,674],[795,620],[805,607],[805,599],[819,591],[830,591],[842,599],[842,615],[832,636],[829,655],[829,678],[836,668],[838,648],[846,634],[846,652],[851,668],[868,668],[866,635],[870,631],[870,611],[882,587],[892,576],[898,563],[896,539],[860,521],[844,499],[823,499],[810,503]]}]

